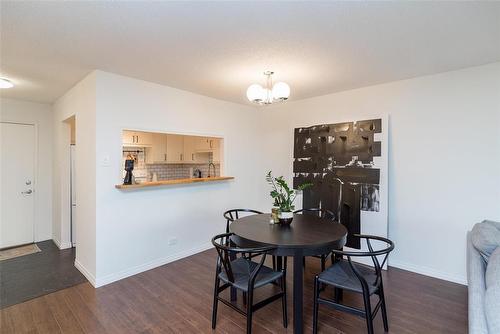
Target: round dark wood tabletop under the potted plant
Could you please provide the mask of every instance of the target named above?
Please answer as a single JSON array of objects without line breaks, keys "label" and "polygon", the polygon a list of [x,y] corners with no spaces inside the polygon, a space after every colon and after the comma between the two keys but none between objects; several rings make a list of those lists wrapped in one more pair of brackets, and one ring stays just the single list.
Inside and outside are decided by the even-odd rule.
[{"label": "round dark wood tabletop under the potted plant", "polygon": [[346,241],[342,224],[314,215],[296,214],[291,225],[270,224],[270,219],[270,214],[250,215],[235,220],[229,228],[236,243],[276,246],[277,255],[282,256],[293,256],[294,248],[302,249],[306,256],[324,254],[342,248]]}]

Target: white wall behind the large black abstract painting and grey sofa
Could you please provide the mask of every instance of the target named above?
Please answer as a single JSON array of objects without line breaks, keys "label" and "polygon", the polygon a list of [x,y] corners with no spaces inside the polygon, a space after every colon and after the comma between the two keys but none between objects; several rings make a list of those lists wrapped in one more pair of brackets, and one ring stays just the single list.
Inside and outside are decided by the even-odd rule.
[{"label": "white wall behind the large black abstract painting and grey sofa", "polygon": [[466,232],[500,220],[500,63],[289,102],[264,160],[292,176],[293,129],[389,115],[390,265],[465,283]]}]

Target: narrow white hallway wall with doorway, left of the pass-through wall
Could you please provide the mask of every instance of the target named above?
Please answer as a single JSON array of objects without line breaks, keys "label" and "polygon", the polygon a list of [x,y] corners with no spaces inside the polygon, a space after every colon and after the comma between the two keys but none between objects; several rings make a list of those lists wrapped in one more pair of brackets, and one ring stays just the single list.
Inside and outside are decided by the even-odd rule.
[{"label": "narrow white hallway wall with doorway, left of the pass-through wall", "polygon": [[96,75],[89,74],[54,104],[54,240],[70,247],[70,125],[76,119],[76,266],[90,281],[96,274]]}]

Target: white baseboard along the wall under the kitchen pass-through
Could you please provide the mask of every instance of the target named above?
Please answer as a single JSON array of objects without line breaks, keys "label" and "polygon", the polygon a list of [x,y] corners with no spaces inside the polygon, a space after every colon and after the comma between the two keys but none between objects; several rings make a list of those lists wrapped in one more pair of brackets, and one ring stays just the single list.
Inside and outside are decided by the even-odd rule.
[{"label": "white baseboard along the wall under the kitchen pass-through", "polygon": [[[151,270],[153,268],[163,266],[167,263],[174,262],[174,261],[183,259],[185,257],[206,251],[207,249],[210,249],[212,247],[213,247],[213,245],[211,242],[203,243],[203,244],[196,246],[194,248],[191,248],[191,249],[188,249],[185,251],[181,251],[181,252],[178,252],[176,254],[167,256],[167,257],[159,258],[159,259],[156,259],[156,260],[153,260],[153,261],[150,261],[150,262],[147,262],[147,263],[144,263],[144,264],[141,264],[141,265],[129,268],[129,269],[125,269],[125,270],[122,270],[122,271],[117,272],[117,273],[109,274],[109,275],[106,275],[104,277],[98,277],[97,279],[93,278],[93,276],[90,275],[94,279],[95,284],[92,282],[91,283],[94,287],[98,288],[98,287],[119,281],[119,280],[124,279],[126,277],[137,275],[137,274],[142,273],[144,271]],[[75,266],[76,266],[76,261],[75,261]],[[80,269],[78,266],[77,266],[77,268]],[[83,269],[83,267],[82,267],[82,269]],[[80,271],[82,271],[82,270],[80,269]],[[91,280],[83,271],[82,271],[82,273],[85,275],[85,277],[87,277],[87,279],[89,281]]]}]

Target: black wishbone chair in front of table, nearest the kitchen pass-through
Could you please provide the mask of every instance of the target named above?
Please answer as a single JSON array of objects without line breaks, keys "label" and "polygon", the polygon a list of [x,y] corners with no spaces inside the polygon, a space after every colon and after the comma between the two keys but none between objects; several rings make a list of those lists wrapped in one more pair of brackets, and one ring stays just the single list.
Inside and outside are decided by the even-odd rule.
[{"label": "black wishbone chair in front of table, nearest the kitchen pass-through", "polygon": [[[212,309],[212,328],[215,329],[217,322],[217,305],[221,301],[227,306],[243,314],[247,318],[247,334],[252,332],[252,315],[261,307],[281,298],[283,309],[283,326],[288,326],[286,308],[286,275],[285,271],[274,271],[264,266],[266,255],[275,250],[275,247],[239,248],[228,246],[232,233],[216,235],[212,238],[212,244],[217,250],[217,267],[215,273],[214,304]],[[233,243],[231,243],[234,245]],[[253,262],[243,256],[231,260],[237,254],[259,254],[262,255],[260,261]],[[220,285],[221,281],[224,283]],[[256,304],[253,303],[254,290],[264,285],[279,281],[281,291]],[[219,294],[227,288],[236,288],[246,294],[246,309],[240,309],[230,301],[220,297]]]}]

